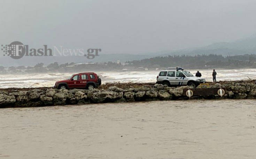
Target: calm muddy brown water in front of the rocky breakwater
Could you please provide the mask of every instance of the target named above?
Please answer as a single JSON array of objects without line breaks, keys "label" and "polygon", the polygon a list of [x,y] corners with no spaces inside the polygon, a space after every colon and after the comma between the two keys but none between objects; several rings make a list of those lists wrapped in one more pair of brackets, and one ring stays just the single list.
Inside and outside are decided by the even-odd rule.
[{"label": "calm muddy brown water in front of the rocky breakwater", "polygon": [[255,101],[0,109],[0,158],[254,159]]}]

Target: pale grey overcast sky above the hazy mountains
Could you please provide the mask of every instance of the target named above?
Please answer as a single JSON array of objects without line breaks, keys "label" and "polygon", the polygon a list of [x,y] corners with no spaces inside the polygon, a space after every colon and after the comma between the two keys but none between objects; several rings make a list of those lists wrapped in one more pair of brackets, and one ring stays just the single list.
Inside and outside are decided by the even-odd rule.
[{"label": "pale grey overcast sky above the hazy mountains", "polygon": [[0,43],[143,54],[255,34],[255,0],[1,0]]}]

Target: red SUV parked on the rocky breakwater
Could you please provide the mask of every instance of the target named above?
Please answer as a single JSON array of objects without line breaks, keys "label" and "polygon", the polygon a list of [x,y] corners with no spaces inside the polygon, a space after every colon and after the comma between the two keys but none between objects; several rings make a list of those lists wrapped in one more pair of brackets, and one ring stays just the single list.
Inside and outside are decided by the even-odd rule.
[{"label": "red SUV parked on the rocky breakwater", "polygon": [[86,88],[93,89],[101,85],[101,79],[94,72],[85,72],[73,74],[70,78],[57,81],[54,88],[58,89],[72,89],[72,88]]}]

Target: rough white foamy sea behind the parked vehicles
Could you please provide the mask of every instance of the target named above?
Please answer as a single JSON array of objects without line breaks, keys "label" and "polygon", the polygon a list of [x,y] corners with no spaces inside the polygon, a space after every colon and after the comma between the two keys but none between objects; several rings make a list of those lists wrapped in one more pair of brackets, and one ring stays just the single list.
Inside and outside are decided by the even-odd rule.
[{"label": "rough white foamy sea behind the parked vehicles", "polygon": [[[197,70],[188,70],[195,75]],[[198,70],[206,81],[212,81],[212,70]],[[85,70],[84,72],[91,72]],[[107,82],[156,82],[159,70],[148,71],[94,71],[102,79],[102,83]],[[256,69],[216,69],[217,81],[235,81],[256,79]],[[33,88],[33,87],[52,87],[56,81],[64,80],[72,74],[67,73],[12,73],[0,74],[0,88]]]}]

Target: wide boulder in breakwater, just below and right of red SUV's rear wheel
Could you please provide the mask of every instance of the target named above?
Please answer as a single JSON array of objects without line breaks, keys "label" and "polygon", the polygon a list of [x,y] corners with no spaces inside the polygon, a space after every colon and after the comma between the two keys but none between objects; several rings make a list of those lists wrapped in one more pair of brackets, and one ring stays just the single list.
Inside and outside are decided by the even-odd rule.
[{"label": "wide boulder in breakwater, just below and right of red SUV's rear wheel", "polygon": [[103,103],[103,102],[113,102],[116,99],[121,98],[123,95],[123,92],[117,93],[114,91],[100,91],[100,92],[94,92],[92,96],[92,101],[95,103]]}]

